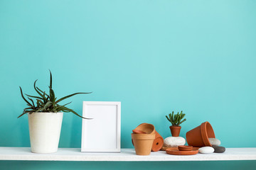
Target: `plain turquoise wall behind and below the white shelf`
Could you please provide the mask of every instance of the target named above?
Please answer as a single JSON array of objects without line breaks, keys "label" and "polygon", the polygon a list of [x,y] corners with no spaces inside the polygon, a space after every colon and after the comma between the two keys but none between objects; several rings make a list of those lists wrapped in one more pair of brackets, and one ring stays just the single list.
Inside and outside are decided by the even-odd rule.
[{"label": "plain turquoise wall behind and below the white shelf", "polygon": [[[256,147],[256,1],[0,0],[0,146],[30,147],[18,86],[59,97],[122,102],[122,147],[152,123],[170,136],[165,115],[183,111],[181,136],[208,120],[225,147]],[[65,113],[59,147],[80,147],[82,120]],[[256,162],[0,162],[35,169],[253,169]],[[63,166],[63,164],[65,166]]]}]

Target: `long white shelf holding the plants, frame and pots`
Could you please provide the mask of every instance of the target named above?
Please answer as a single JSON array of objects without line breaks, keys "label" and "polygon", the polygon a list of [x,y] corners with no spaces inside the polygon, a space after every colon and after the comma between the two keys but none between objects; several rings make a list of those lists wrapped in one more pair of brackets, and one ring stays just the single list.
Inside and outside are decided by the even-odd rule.
[{"label": "long white shelf holding the plants, frame and pots", "polygon": [[121,149],[121,153],[88,153],[80,148],[59,148],[54,154],[34,154],[29,147],[0,147],[0,160],[22,161],[90,161],[90,162],[166,162],[166,161],[227,161],[256,160],[256,148],[227,148],[222,154],[196,154],[176,156],[164,151],[139,156],[134,149]]}]

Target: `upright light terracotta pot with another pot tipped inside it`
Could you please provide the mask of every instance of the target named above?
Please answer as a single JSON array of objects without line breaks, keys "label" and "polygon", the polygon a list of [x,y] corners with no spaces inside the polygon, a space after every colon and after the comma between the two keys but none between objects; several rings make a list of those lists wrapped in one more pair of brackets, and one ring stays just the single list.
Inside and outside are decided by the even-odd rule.
[{"label": "upright light terracotta pot with another pot tipped inside it", "polygon": [[134,142],[135,152],[138,155],[149,155],[154,142],[155,134],[134,134],[132,140]]}]

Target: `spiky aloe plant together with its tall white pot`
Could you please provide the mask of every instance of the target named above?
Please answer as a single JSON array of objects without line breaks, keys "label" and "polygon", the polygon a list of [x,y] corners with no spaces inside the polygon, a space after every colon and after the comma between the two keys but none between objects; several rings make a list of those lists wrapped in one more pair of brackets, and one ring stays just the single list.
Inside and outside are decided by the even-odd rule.
[{"label": "spiky aloe plant together with its tall white pot", "polygon": [[[37,80],[36,80],[37,81]],[[90,93],[75,93],[65,96],[63,98],[56,98],[52,86],[52,74],[50,72],[50,86],[49,94],[46,91],[42,91],[36,86],[36,81],[33,87],[38,96],[31,96],[26,94],[28,99],[23,96],[21,90],[21,97],[26,101],[27,108],[24,108],[23,113],[18,116],[28,113],[28,127],[29,136],[31,141],[31,152],[34,153],[53,153],[58,150],[58,143],[60,139],[60,130],[63,120],[63,112],[71,112],[83,118],[70,108],[67,108],[66,103],[60,104],[60,101],[75,96],[77,94],[90,94]],[[34,99],[34,100],[33,100]],[[71,103],[71,102],[70,102]],[[87,118],[85,118],[87,119]]]}]

